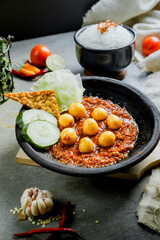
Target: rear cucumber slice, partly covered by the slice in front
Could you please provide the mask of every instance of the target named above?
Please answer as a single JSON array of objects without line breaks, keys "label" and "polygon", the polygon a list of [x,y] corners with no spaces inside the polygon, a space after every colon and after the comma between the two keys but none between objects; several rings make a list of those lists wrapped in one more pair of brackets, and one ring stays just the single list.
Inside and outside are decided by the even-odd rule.
[{"label": "rear cucumber slice, partly covered by the slice in front", "polygon": [[52,113],[40,110],[40,109],[29,109],[18,114],[16,123],[20,128],[23,128],[25,124],[28,124],[35,120],[46,120],[57,126],[57,118]]}]

